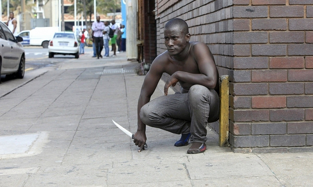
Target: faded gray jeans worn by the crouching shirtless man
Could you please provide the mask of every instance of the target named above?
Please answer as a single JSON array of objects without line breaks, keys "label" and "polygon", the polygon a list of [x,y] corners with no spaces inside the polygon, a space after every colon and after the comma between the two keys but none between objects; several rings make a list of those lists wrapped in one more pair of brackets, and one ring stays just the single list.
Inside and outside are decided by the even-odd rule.
[{"label": "faded gray jeans worn by the crouching shirtless man", "polygon": [[175,134],[191,133],[190,142],[207,141],[207,123],[219,117],[219,96],[213,89],[191,86],[188,93],[160,96],[140,111],[141,121]]}]

